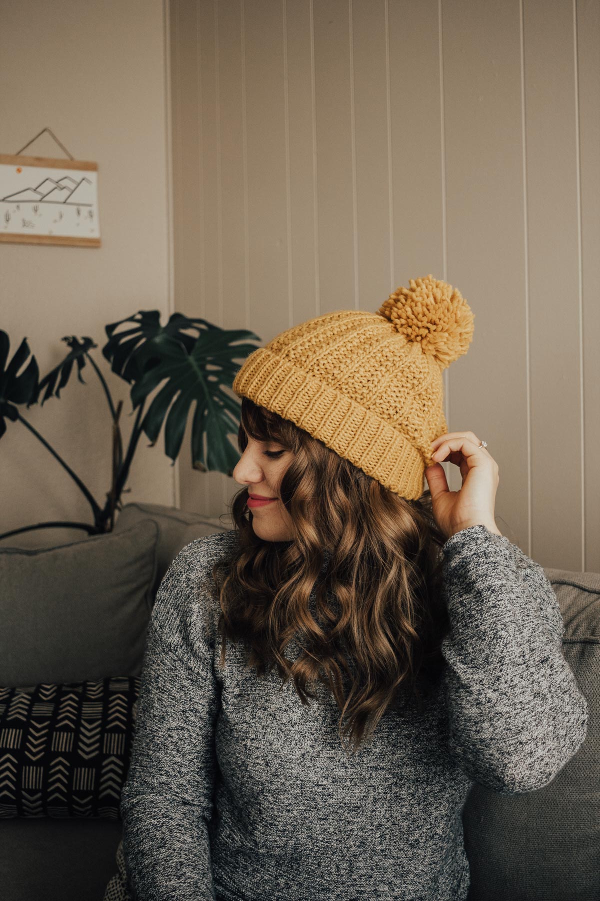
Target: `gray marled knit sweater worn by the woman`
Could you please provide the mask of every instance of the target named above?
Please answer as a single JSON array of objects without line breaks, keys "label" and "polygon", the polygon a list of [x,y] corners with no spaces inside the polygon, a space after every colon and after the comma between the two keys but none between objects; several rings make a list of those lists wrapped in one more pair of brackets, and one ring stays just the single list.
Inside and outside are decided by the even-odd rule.
[{"label": "gray marled knit sweater worn by the woman", "polygon": [[506,795],[543,787],[587,734],[542,567],[483,525],[452,535],[447,666],[423,713],[389,708],[346,759],[320,683],[319,703],[303,706],[291,680],[280,691],[276,669],[257,678],[230,642],[219,669],[218,605],[202,579],[235,541],[232,531],[189,544],[157,594],[121,796],[131,895],[466,898],[473,781]]}]

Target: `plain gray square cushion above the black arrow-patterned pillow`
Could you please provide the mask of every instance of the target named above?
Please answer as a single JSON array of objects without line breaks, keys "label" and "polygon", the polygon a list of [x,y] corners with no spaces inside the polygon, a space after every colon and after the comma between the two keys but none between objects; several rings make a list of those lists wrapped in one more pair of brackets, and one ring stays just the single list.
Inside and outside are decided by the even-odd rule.
[{"label": "plain gray square cushion above the black arrow-patterned pillow", "polygon": [[0,686],[139,676],[157,524],[39,550],[0,548]]}]

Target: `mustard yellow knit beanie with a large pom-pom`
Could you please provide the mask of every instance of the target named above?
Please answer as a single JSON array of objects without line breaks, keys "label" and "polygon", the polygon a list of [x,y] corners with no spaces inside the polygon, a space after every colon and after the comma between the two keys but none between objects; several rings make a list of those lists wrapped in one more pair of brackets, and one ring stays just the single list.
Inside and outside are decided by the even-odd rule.
[{"label": "mustard yellow knit beanie with a large pom-pom", "polygon": [[475,317],[452,285],[409,284],[376,313],[337,310],[281,332],[248,356],[233,390],[416,500],[431,441],[448,431],[443,369],[469,349]]}]

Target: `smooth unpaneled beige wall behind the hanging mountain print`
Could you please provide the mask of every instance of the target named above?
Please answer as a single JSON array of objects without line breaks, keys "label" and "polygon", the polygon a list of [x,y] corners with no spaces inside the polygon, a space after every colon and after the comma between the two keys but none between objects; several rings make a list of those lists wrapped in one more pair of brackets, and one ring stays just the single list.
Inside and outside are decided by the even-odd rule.
[{"label": "smooth unpaneled beige wall behind the hanging mountain print", "polygon": [[[27,336],[42,376],[64,359],[63,335],[90,335],[115,402],[123,401],[127,441],[129,386],[102,357],[103,326],[139,309],[158,309],[163,321],[169,312],[167,2],[3,3],[0,23],[0,152],[16,153],[48,126],[76,159],[97,162],[102,239],[99,248],[0,244],[0,328],[10,335],[11,356]],[[24,153],[67,159],[48,132]],[[102,505],[111,484],[112,420],[91,367],[83,378],[85,386],[73,375],[59,399],[24,415]],[[146,445],[139,441],[123,500],[173,504],[175,470],[162,438],[152,450]],[[21,423],[8,423],[0,453],[0,532],[91,521],[85,497]],[[54,529],[3,544],[84,537]]]}]

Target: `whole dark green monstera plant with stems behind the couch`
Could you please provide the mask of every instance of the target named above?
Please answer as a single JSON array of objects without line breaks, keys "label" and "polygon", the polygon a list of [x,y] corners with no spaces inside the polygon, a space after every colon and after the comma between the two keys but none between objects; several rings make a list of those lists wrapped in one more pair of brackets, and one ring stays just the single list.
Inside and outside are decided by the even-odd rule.
[{"label": "whole dark green monstera plant with stems behind the couch", "polygon": [[[104,327],[108,341],[103,357],[112,372],[130,386],[135,420],[127,447],[123,447],[120,418],[123,402],[115,404],[110,388],[96,363],[91,338],[63,338],[68,353],[58,366],[40,379],[37,360],[23,338],[9,362],[10,341],[0,329],[0,439],[9,423],[21,423],[52,454],[76,483],[91,507],[93,522],[36,523],[4,532],[0,539],[32,529],[69,527],[88,534],[110,532],[115,510],[121,509],[121,495],[130,473],[131,460],[144,432],[153,446],[165,426],[165,452],[176,460],[184,440],[185,427],[192,413],[192,462],[202,472],[218,471],[230,476],[238,454],[228,434],[237,434],[239,401],[231,388],[237,369],[248,353],[256,350],[246,341],[260,341],[254,332],[221,329],[204,319],[190,319],[174,313],[161,325],[157,310],[145,310]],[[239,343],[241,341],[241,343]],[[29,362],[27,360],[29,359]],[[236,363],[236,360],[239,362]],[[27,363],[27,365],[25,365]],[[44,405],[51,397],[60,397],[71,375],[76,372],[85,383],[82,371],[90,364],[108,405],[112,422],[112,481],[106,499],[99,502],[84,481],[68,466],[49,441],[27,421],[20,407]]]}]

